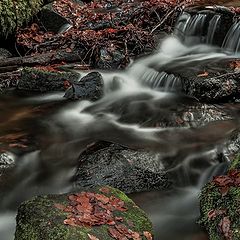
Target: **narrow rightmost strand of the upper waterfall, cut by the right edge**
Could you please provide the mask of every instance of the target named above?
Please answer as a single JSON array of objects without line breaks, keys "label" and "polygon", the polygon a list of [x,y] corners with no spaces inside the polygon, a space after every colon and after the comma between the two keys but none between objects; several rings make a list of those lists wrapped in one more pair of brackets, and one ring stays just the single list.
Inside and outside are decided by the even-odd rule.
[{"label": "narrow rightmost strand of the upper waterfall, cut by the right edge", "polygon": [[224,39],[222,48],[234,53],[240,51],[240,21],[233,23]]}]

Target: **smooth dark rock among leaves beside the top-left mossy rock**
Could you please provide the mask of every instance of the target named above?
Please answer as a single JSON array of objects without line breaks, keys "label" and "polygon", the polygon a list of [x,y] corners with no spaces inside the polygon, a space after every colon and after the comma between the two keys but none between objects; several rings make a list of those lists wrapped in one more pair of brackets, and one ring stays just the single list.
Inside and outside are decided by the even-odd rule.
[{"label": "smooth dark rock among leaves beside the top-left mossy rock", "polygon": [[45,5],[40,12],[40,22],[47,31],[58,33],[69,21],[53,9],[53,3]]}]

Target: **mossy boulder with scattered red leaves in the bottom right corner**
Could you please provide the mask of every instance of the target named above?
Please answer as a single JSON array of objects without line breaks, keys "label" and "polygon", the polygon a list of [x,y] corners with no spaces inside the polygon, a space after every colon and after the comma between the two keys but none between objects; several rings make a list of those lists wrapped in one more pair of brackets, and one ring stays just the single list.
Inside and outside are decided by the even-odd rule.
[{"label": "mossy boulder with scattered red leaves in the bottom right corner", "polygon": [[201,191],[199,223],[210,240],[240,239],[240,155]]}]

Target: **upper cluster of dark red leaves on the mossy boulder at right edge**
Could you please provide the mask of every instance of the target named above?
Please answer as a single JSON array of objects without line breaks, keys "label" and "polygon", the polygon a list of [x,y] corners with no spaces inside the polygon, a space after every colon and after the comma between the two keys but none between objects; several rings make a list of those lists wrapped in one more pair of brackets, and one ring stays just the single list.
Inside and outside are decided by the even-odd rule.
[{"label": "upper cluster of dark red leaves on the mossy boulder at right edge", "polygon": [[227,175],[215,177],[213,183],[219,187],[221,194],[225,196],[230,187],[240,187],[240,171],[230,170]]}]

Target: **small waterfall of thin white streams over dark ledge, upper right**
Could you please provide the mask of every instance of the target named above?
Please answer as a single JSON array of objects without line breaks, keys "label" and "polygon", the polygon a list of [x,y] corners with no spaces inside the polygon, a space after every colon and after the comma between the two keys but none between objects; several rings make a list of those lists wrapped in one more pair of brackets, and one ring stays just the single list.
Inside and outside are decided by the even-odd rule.
[{"label": "small waterfall of thin white streams over dark ledge, upper right", "polygon": [[221,6],[187,9],[179,16],[174,34],[188,46],[201,43],[231,52],[240,50],[240,23]]}]

